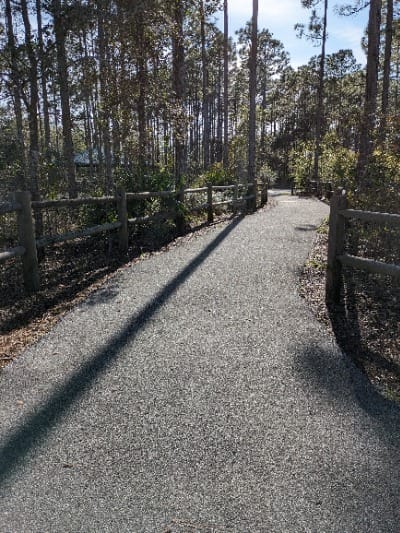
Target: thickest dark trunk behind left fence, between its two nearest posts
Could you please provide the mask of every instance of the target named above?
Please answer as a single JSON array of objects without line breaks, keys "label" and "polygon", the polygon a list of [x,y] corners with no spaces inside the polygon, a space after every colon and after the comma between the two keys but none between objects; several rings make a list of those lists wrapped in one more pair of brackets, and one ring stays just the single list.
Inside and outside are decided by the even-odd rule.
[{"label": "thickest dark trunk behind left fence, between its two nearest posts", "polygon": [[52,15],[57,50],[58,82],[60,85],[61,120],[63,134],[63,158],[68,194],[70,198],[78,196],[76,170],[74,163],[74,143],[72,140],[72,120],[70,108],[70,91],[68,81],[68,63],[65,49],[66,28],[60,0],[52,1]]}]

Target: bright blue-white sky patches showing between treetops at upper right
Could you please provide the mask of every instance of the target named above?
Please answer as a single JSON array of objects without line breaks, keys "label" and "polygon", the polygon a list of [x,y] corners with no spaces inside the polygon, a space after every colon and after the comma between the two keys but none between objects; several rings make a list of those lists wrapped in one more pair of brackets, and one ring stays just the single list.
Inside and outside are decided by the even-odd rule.
[{"label": "bright blue-white sky patches showing between treetops at upper right", "polygon": [[[302,39],[296,37],[294,25],[298,22],[307,24],[310,16],[310,11],[301,6],[300,0],[259,0],[258,4],[259,29],[270,30],[273,36],[284,44],[294,68],[308,63],[312,56],[320,53],[320,46],[313,46],[304,37]],[[367,10],[351,17],[340,17],[334,12],[337,1],[331,0],[330,4],[327,53],[337,52],[341,48],[350,48],[357,61],[364,65],[365,54],[360,42],[367,25]],[[252,6],[252,0],[228,0],[230,35],[233,36],[236,30],[250,20]]]}]

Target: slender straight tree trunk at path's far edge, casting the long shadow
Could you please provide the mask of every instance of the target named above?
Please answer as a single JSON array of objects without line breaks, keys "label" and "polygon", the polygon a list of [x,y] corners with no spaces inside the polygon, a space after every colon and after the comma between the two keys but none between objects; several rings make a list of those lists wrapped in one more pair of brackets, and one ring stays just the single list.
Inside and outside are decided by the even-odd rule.
[{"label": "slender straight tree trunk at path's far edge, casting the long shadow", "polygon": [[[257,48],[258,48],[258,0],[253,0],[251,22],[251,46],[249,57],[249,159],[248,181],[253,184],[251,194],[256,190],[256,91],[257,91]],[[256,198],[249,207],[256,208]]]}]

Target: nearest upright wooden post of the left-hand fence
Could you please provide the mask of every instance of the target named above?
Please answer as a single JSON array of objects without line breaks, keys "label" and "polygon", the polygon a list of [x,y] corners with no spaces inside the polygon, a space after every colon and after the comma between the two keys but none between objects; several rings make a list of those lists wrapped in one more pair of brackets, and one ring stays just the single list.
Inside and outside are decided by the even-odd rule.
[{"label": "nearest upright wooden post of the left-hand fence", "polygon": [[37,256],[35,229],[32,216],[31,194],[28,191],[14,193],[14,201],[21,206],[17,211],[18,236],[20,246],[25,248],[22,256],[24,286],[28,292],[39,290],[39,263]]}]

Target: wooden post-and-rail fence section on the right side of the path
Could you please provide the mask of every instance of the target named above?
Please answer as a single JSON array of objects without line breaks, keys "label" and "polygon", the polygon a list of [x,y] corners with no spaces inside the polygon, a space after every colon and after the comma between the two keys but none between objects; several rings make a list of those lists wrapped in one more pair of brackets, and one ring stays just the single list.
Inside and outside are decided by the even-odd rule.
[{"label": "wooden post-and-rail fence section on the right side of the path", "polygon": [[328,265],[326,273],[326,301],[328,303],[340,302],[340,293],[343,286],[343,265],[375,274],[400,278],[400,265],[383,263],[344,253],[346,219],[400,227],[399,214],[347,209],[345,191],[339,190],[333,194],[329,216]]}]

